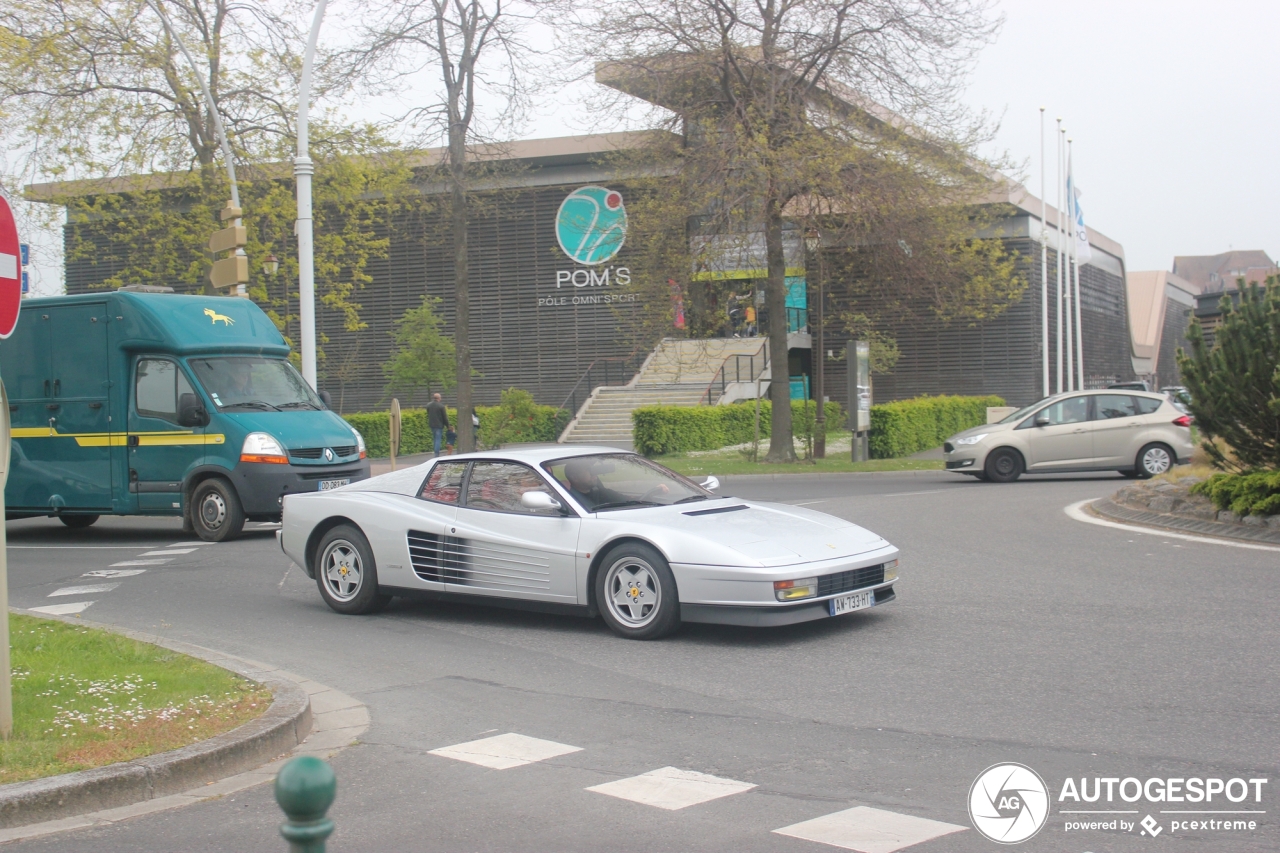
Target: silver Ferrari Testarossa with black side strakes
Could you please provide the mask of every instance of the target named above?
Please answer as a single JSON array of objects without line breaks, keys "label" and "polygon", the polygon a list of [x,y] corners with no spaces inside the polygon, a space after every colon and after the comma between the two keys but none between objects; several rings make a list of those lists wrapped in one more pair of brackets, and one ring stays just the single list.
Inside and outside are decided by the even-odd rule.
[{"label": "silver Ferrari Testarossa with black side strakes", "polygon": [[895,597],[897,548],[785,503],[722,497],[643,456],[544,446],[447,456],[284,496],[280,547],[339,613],[393,596],[680,622],[791,625]]}]

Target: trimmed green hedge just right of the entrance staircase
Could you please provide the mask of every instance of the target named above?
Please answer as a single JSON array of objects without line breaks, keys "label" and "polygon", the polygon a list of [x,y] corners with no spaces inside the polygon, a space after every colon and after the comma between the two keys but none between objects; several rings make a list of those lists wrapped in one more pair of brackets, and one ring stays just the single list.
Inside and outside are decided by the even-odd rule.
[{"label": "trimmed green hedge just right of the entrance staircase", "polygon": [[[769,437],[772,407],[760,401],[760,438]],[[800,437],[813,432],[818,403],[791,401],[791,424]],[[844,429],[845,411],[840,403],[827,403],[827,434]],[[636,451],[645,456],[717,450],[755,439],[755,401],[728,406],[643,406],[631,412],[631,435]]]}]

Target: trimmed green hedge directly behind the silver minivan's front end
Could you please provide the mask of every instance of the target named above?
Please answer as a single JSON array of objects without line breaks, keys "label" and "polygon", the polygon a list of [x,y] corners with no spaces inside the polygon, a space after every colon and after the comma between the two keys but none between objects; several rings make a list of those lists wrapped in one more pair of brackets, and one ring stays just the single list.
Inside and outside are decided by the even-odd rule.
[{"label": "trimmed green hedge directly behind the silver minivan's front end", "polygon": [[1002,397],[915,397],[872,406],[872,459],[897,459],[938,447],[951,435],[987,423]]}]

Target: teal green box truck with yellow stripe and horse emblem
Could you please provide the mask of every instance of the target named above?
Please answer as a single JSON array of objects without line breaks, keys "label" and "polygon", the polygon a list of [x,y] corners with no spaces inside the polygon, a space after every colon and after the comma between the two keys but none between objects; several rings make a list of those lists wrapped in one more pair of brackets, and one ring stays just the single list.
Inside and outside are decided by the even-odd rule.
[{"label": "teal green box truck with yellow stripe and horse emblem", "polygon": [[6,517],[180,515],[218,542],[278,521],[285,494],[367,478],[360,433],[288,353],[244,298],[123,288],[24,301],[0,341]]}]

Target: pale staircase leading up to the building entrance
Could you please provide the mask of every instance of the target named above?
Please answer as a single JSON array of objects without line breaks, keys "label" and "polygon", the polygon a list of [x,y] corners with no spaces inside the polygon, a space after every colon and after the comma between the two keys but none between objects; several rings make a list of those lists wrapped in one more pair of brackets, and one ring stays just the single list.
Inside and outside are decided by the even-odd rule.
[{"label": "pale staircase leading up to the building entrance", "polygon": [[[631,412],[641,406],[714,403],[726,361],[735,356],[760,360],[764,338],[684,341],[667,338],[626,386],[600,386],[561,435],[562,443],[604,444],[632,450]],[[763,362],[756,370],[763,368]]]}]

